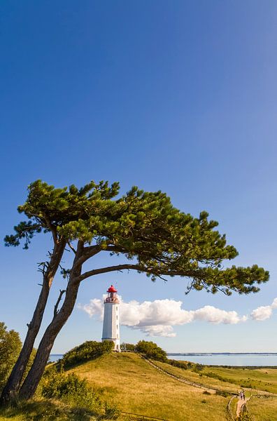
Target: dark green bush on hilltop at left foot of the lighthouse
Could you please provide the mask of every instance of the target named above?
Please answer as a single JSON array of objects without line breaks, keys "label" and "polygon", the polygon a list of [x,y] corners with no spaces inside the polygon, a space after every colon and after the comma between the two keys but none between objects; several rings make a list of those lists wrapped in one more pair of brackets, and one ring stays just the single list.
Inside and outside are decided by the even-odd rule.
[{"label": "dark green bush on hilltop at left foot of the lighthouse", "polygon": [[108,354],[113,349],[113,342],[105,340],[104,342],[97,342],[90,340],[84,342],[82,345],[66,352],[59,364],[64,368],[70,368],[78,363],[83,363],[92,359],[96,359],[101,355]]}]

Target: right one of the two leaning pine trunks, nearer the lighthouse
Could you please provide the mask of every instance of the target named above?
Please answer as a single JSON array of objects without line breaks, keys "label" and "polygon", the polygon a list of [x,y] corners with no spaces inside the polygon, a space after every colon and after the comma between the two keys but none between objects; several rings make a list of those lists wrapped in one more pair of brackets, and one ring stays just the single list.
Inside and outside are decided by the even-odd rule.
[{"label": "right one of the two leaning pine trunks, nearer the lighthouse", "polygon": [[[77,262],[80,258],[80,252],[76,253],[74,262]],[[81,265],[78,265],[78,268],[74,267],[71,270],[71,275],[69,279],[68,286],[66,288],[66,295],[64,298],[64,304],[60,311],[54,315],[51,323],[48,325],[48,328],[45,330],[43,338],[38,346],[38,351],[36,352],[36,357],[34,363],[29,370],[29,373],[24,380],[22,387],[20,389],[20,398],[21,399],[30,399],[36,392],[38,383],[41,380],[45,366],[48,362],[52,346],[54,345],[55,339],[59,331],[62,329],[66,320],[71,315],[74,305],[76,303],[76,298],[78,294],[78,289],[80,286],[80,271]],[[78,279],[78,281],[77,281]]]}]

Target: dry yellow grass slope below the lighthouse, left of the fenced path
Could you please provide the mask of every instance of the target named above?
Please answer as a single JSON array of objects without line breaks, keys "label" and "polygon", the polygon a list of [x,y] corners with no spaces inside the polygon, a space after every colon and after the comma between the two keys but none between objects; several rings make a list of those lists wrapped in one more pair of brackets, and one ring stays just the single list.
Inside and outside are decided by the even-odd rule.
[{"label": "dry yellow grass slope below the lighthouse, left of the fenced path", "polygon": [[225,420],[228,398],[173,380],[136,354],[109,354],[72,371],[126,412],[170,421]]}]

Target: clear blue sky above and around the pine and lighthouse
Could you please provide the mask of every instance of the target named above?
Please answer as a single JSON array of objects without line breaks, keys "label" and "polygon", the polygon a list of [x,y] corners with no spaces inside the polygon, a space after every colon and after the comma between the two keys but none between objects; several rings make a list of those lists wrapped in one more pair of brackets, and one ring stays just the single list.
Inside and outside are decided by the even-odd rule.
[{"label": "clear blue sky above and around the pine and lighthouse", "polygon": [[[249,315],[277,297],[277,5],[275,1],[5,1],[0,4],[1,233],[20,220],[29,182],[88,180],[162,189],[193,215],[208,210],[271,279],[256,295],[192,292],[183,279],[108,274],[85,281],[78,303],[115,283],[125,302],[180,300]],[[26,332],[39,293],[28,251],[1,245],[0,319]],[[101,263],[102,258],[97,261]],[[52,316],[59,276],[44,325]],[[168,351],[276,351],[277,309],[265,321],[174,327],[173,338],[122,327],[122,340]],[[101,338],[101,322],[76,308],[53,352]]]}]

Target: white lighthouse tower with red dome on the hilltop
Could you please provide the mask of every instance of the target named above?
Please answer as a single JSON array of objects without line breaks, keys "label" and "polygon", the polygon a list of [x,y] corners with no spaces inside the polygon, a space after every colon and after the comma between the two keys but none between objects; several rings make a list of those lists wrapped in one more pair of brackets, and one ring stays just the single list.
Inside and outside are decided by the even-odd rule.
[{"label": "white lighthouse tower with red dome on the hilltop", "polygon": [[113,285],[107,290],[108,296],[104,301],[104,321],[102,342],[111,340],[114,342],[114,351],[120,352],[120,324],[119,324],[119,305],[118,291]]}]

